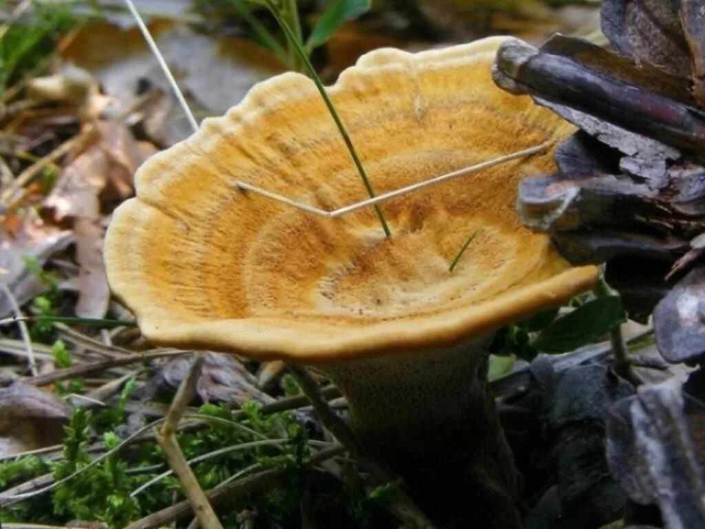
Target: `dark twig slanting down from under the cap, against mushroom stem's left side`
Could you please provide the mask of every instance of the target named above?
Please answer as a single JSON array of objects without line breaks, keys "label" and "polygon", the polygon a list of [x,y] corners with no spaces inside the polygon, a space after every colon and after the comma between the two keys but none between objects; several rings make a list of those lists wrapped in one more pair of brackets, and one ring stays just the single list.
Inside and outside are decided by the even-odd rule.
[{"label": "dark twig slanting down from under the cap, against mushroom stem's left side", "polygon": [[[398,481],[398,478],[392,475],[384,466],[381,466],[380,463],[364,454],[360,443],[357,442],[355,434],[353,434],[353,430],[350,430],[350,427],[343,419],[338,417],[338,415],[331,410],[328,402],[324,399],[321,387],[313,379],[311,373],[300,365],[289,365],[288,367],[298,379],[299,385],[309,401],[311,401],[321,423],[338,439],[338,442],[345,446],[345,450],[350,452],[350,455],[355,457],[357,461],[360,461],[360,464],[369,472],[376,485],[384,485],[385,483]],[[405,522],[410,521],[419,528],[433,529],[435,527],[403,490],[399,490],[391,499],[388,504],[388,509],[395,516],[400,518],[400,520]]]}]

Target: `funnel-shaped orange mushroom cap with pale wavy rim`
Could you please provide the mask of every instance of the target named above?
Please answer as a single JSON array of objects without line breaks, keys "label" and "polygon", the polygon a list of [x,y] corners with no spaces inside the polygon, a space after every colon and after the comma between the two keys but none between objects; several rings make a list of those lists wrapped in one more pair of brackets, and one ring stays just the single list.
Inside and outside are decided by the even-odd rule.
[{"label": "funnel-shaped orange mushroom cap with pale wavy rim", "polygon": [[[494,85],[501,42],[381,49],[329,89],[376,193],[572,132]],[[309,363],[451,345],[596,279],[515,214],[520,178],[553,169],[549,153],[385,202],[392,238],[372,208],[327,219],[243,193],[236,180],[327,210],[367,198],[314,84],[286,73],[140,168],[109,281],[154,343]]]}]

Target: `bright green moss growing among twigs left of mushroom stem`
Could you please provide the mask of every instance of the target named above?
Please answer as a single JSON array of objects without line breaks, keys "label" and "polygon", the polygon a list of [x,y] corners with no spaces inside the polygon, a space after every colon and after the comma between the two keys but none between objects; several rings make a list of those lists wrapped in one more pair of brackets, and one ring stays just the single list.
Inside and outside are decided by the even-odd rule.
[{"label": "bright green moss growing among twigs left of mushroom stem", "polygon": [[[120,408],[124,408],[130,391],[128,386],[123,389],[117,409],[111,413],[78,408],[66,427],[61,460],[45,463],[32,457],[0,463],[0,488],[47,471],[53,471],[56,480],[78,472],[50,494],[3,509],[3,521],[61,525],[85,519],[102,521],[109,528],[118,529],[183,499],[180,483],[173,475],[160,477],[168,467],[156,442],[130,444],[115,450],[122,440],[116,432],[126,420]],[[309,435],[292,413],[264,415],[259,404],[247,402],[240,410],[206,404],[197,417],[207,420],[209,425],[181,432],[178,440],[186,458],[198,458],[192,468],[204,489],[235,475],[267,468],[285,472],[281,485],[217,505],[216,511],[225,527],[240,527],[238,514],[252,509],[259,513],[257,526],[298,529],[304,498],[309,498],[312,516],[322,521],[321,526],[326,526],[324,522],[329,520],[345,527],[393,526],[384,510],[384,491],[366,491],[354,463],[343,464],[351,477],[357,476],[355,479],[343,476],[341,480],[312,468]],[[109,455],[92,464],[95,456],[89,448],[99,441]],[[240,449],[243,444],[247,447]]]}]

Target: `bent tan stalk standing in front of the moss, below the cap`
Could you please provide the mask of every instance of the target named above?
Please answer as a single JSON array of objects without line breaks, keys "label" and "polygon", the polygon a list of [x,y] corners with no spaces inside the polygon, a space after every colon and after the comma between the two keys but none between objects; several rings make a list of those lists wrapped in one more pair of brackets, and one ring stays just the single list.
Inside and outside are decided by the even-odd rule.
[{"label": "bent tan stalk standing in front of the moss, below the cap", "polygon": [[181,490],[190,501],[192,509],[195,511],[198,521],[203,529],[223,529],[218,517],[216,516],[213,507],[209,503],[201,486],[198,484],[193,470],[188,466],[183,451],[176,439],[176,428],[181,416],[186,410],[186,406],[193,398],[196,391],[196,384],[201,375],[204,357],[198,355],[191,365],[188,377],[183,379],[176,396],[174,396],[169,413],[166,415],[164,425],[161,430],[156,430],[154,436],[157,437],[157,442],[164,450],[164,456],[169,463],[171,470],[176,474]]}]

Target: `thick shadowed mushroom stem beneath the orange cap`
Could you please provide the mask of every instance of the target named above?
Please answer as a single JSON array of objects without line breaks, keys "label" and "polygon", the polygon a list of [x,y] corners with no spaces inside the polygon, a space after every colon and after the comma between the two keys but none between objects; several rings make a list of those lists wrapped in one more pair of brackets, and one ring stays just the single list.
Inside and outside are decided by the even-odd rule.
[{"label": "thick shadowed mushroom stem beneath the orange cap", "polygon": [[319,368],[364,451],[443,528],[522,527],[519,477],[487,382],[490,338]]}]

